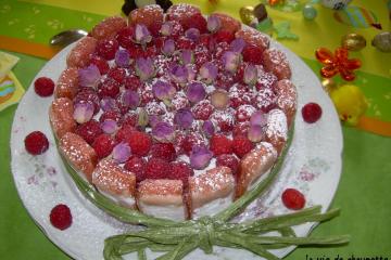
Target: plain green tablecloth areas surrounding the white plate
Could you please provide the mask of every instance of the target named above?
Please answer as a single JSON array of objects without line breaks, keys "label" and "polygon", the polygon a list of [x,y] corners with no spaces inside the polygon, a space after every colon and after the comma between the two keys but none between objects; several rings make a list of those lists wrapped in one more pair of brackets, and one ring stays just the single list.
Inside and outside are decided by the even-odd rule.
[{"label": "plain green tablecloth areas surrounding the white plate", "polygon": [[[0,12],[2,6],[0,1]],[[0,22],[4,22],[1,16]],[[13,54],[21,57],[13,72],[27,88],[46,61]],[[35,225],[17,196],[9,148],[15,108],[0,112],[0,259],[68,259]],[[338,255],[343,259],[391,259],[391,139],[353,128],[343,128],[343,172],[332,203],[342,208],[342,214],[313,234],[351,234],[351,243],[337,248],[300,248],[286,259],[335,259]]]}]

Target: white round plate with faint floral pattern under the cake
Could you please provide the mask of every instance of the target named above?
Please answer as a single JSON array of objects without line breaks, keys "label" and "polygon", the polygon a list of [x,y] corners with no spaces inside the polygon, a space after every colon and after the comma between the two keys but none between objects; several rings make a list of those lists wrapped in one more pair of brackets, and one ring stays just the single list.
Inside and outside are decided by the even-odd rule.
[{"label": "white round plate with faint floral pattern under the cake", "polygon": [[[49,61],[36,78],[45,76],[56,80],[65,68],[66,54],[72,47]],[[325,211],[340,180],[342,133],[330,99],[302,60],[273,40],[272,47],[287,54],[292,68],[292,81],[298,88],[299,105],[293,141],[276,182],[245,212],[236,218],[238,221],[288,212],[280,200],[280,195],[287,187],[301,191],[306,197],[306,207],[321,205]],[[11,133],[15,184],[29,214],[55,245],[75,259],[102,259],[104,238],[137,226],[121,223],[96,208],[74,185],[59,156],[49,125],[48,108],[53,98],[39,98],[31,84],[17,107]],[[301,107],[308,102],[316,102],[323,108],[323,116],[316,123],[305,123],[302,119]],[[31,156],[25,151],[24,139],[36,130],[48,136],[50,148],[42,155]],[[58,204],[66,204],[72,210],[73,224],[65,231],[54,229],[49,221],[50,210]],[[295,226],[294,231],[299,236],[305,236],[314,226],[314,223],[307,223]],[[293,249],[294,247],[289,247],[273,252],[282,258]],[[148,255],[153,257],[152,253]],[[137,257],[128,255],[126,259]],[[261,258],[244,250],[215,247],[212,255],[205,256],[198,249],[186,259]]]}]

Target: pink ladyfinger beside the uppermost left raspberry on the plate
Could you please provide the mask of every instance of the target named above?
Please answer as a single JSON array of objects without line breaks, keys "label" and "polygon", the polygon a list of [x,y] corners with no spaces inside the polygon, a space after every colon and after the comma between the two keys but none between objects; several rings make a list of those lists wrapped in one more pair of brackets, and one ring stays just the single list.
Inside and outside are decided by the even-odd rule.
[{"label": "pink ladyfinger beside the uppermost left raspberry on the plate", "polygon": [[55,84],[54,96],[67,98],[73,100],[78,90],[78,70],[77,68],[66,68],[60,75],[60,78]]}]

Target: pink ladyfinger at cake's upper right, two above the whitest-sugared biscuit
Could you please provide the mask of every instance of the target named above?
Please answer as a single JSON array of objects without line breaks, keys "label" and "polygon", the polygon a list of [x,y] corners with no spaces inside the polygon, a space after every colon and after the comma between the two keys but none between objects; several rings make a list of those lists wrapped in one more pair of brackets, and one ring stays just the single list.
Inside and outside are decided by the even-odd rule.
[{"label": "pink ladyfinger at cake's upper right, two above the whitest-sugared biscuit", "polygon": [[291,78],[292,72],[283,52],[276,49],[268,49],[263,52],[262,57],[266,72],[274,73],[279,80]]}]

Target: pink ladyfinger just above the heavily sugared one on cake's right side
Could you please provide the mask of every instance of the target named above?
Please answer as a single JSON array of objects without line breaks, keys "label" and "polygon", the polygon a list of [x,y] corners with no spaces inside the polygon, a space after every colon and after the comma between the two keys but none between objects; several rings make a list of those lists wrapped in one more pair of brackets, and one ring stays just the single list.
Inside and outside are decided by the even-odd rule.
[{"label": "pink ladyfinger just above the heavily sugared one on cake's right side", "polygon": [[277,105],[287,116],[288,127],[291,126],[297,112],[298,93],[294,84],[289,79],[278,81],[275,87],[277,92]]}]

